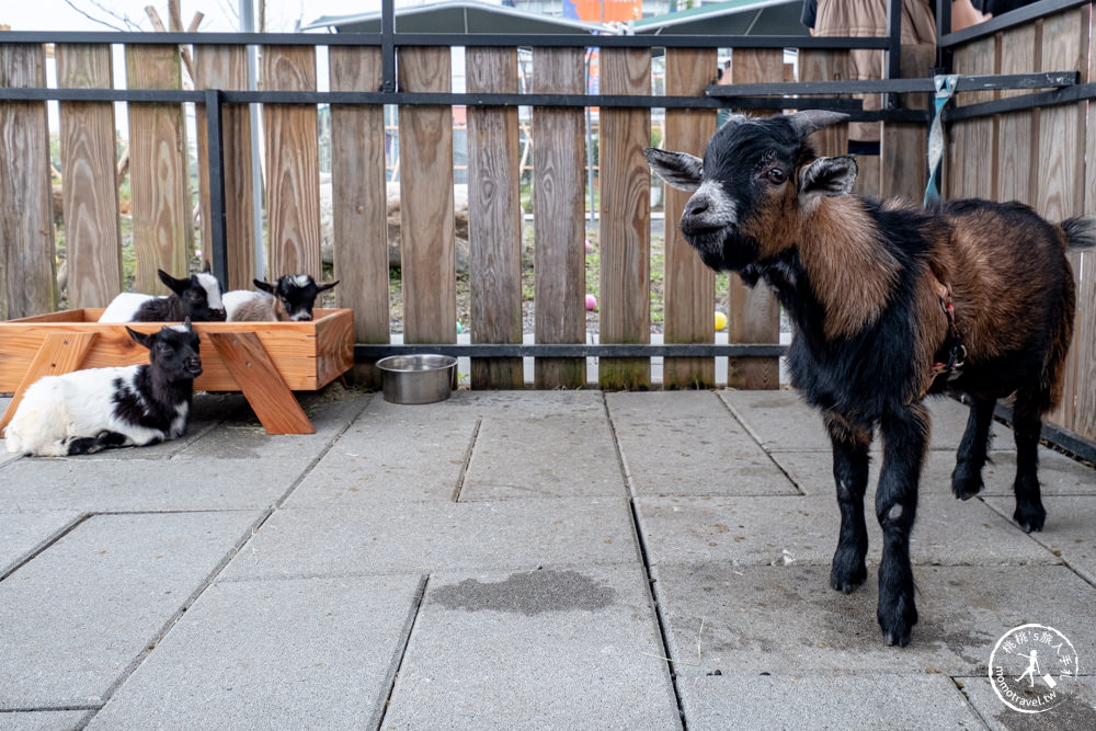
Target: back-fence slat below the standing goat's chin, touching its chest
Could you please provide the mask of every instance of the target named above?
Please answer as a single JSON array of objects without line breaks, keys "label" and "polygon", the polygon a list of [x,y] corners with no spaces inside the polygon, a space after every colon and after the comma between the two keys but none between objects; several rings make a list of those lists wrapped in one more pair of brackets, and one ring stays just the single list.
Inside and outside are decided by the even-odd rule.
[{"label": "back-fence slat below the standing goat's chin, touching its chest", "polygon": [[[779,79],[783,75],[784,50],[779,48],[737,48],[731,56],[732,83],[755,83],[765,79]],[[780,305],[769,287],[747,287],[739,277],[732,276],[729,300],[727,332],[730,342],[780,341]],[[729,358],[727,385],[749,389],[779,388],[779,359]]]}]

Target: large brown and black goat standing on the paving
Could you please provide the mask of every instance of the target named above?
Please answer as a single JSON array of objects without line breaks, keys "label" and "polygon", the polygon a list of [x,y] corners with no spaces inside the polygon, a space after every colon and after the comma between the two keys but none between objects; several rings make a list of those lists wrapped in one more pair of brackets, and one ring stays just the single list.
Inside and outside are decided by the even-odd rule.
[{"label": "large brown and black goat standing on the paving", "polygon": [[654,149],[647,159],[694,192],[681,228],[704,262],[751,286],[764,279],[795,323],[791,381],[822,412],[833,445],[841,534],[830,583],[842,592],[867,579],[864,494],[879,429],[878,619],[889,644],[905,646],[917,621],[909,541],[929,433],[923,400],[949,392],[971,402],[951,478],[966,500],[982,489],[994,403],[1015,393],[1014,517],[1040,530],[1037,446],[1072,335],[1065,251],[1096,243],[1096,224],[1050,224],[1017,203],[923,210],[849,195],[853,158],[815,158],[807,142],[845,116],[732,117],[704,160]]}]

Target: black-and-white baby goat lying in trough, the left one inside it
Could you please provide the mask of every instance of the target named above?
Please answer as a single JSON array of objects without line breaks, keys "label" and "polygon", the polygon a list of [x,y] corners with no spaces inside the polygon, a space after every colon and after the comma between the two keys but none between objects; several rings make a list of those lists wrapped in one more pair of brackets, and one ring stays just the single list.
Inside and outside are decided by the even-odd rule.
[{"label": "black-and-white baby goat lying in trough, the left one inside it", "polygon": [[209,262],[198,274],[176,279],[157,270],[160,282],[171,294],[164,297],[124,292],[106,306],[100,322],[224,322],[220,283],[209,273]]}]

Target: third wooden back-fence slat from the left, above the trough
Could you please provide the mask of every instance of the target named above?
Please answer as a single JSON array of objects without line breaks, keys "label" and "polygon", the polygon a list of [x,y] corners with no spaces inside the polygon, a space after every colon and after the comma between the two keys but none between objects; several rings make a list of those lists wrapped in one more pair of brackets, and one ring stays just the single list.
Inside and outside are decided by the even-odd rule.
[{"label": "third wooden back-fence slat from the left, above the trough", "polygon": [[[179,46],[126,46],[130,89],[179,89],[181,79]],[[183,105],[135,102],[128,110],[134,289],[162,295],[168,290],[156,270],[185,276],[194,236]]]}]

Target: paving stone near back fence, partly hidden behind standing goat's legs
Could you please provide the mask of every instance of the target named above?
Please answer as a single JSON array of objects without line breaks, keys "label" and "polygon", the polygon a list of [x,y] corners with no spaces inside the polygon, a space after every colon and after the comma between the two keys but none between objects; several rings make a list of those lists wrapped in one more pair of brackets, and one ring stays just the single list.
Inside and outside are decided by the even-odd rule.
[{"label": "paving stone near back fence, partly hidden behind standing goat's legs", "polygon": [[[822,418],[796,391],[720,391],[734,414],[770,452],[830,452]],[[951,398],[925,401],[932,414],[933,449],[955,452],[967,427],[970,409]],[[994,422],[990,427],[997,450],[1013,447],[1012,430]],[[877,438],[874,448],[878,449]]]}]

